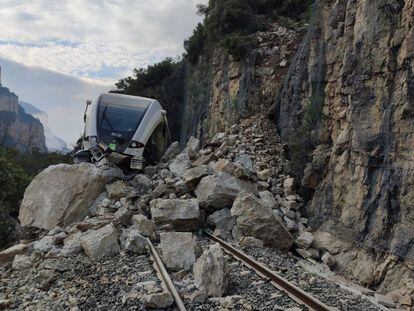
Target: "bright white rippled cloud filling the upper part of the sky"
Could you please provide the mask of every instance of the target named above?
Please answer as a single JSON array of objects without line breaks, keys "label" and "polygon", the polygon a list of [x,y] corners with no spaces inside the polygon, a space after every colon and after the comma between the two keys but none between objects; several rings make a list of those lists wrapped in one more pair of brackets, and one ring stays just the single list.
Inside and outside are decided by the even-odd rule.
[{"label": "bright white rippled cloud filling the upper part of the sky", "polygon": [[[205,2],[206,0],[204,0]],[[0,57],[115,81],[183,52],[198,0],[3,0]]]}]

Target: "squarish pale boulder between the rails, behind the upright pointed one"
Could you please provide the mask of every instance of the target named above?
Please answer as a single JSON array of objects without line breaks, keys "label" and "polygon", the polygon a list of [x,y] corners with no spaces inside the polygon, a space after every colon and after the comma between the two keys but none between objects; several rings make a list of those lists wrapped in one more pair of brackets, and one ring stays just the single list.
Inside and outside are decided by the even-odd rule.
[{"label": "squarish pale boulder between the rails, behind the upright pointed one", "polygon": [[190,232],[161,232],[161,257],[170,270],[189,271],[195,262],[196,243]]}]

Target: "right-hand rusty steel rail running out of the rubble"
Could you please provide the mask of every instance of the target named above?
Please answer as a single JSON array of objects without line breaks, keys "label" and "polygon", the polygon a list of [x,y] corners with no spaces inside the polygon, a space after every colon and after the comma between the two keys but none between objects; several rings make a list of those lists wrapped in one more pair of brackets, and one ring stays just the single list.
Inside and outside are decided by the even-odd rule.
[{"label": "right-hand rusty steel rail running out of the rubble", "polygon": [[278,288],[279,290],[285,292],[289,295],[290,298],[295,300],[300,304],[306,305],[311,310],[316,311],[334,311],[337,310],[334,307],[327,306],[323,302],[317,300],[307,292],[300,289],[298,286],[294,285],[293,283],[289,282],[285,278],[278,275],[276,272],[268,269],[260,262],[256,261],[255,259],[249,257],[242,251],[236,249],[232,245],[228,244],[227,242],[223,241],[222,239],[212,235],[207,231],[203,231],[204,235],[209,238],[210,240],[217,242],[220,246],[230,255],[235,257],[236,259],[243,262],[245,265],[253,269],[257,274],[261,277],[268,278],[273,286]]}]

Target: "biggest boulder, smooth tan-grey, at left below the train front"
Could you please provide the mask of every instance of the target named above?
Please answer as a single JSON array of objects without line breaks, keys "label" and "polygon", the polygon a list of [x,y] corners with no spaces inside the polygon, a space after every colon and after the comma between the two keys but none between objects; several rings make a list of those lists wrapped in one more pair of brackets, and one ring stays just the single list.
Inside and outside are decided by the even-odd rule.
[{"label": "biggest boulder, smooth tan-grey, at left below the train front", "polygon": [[120,174],[88,163],[49,166],[24,193],[19,213],[21,225],[51,229],[85,217],[108,181]]}]

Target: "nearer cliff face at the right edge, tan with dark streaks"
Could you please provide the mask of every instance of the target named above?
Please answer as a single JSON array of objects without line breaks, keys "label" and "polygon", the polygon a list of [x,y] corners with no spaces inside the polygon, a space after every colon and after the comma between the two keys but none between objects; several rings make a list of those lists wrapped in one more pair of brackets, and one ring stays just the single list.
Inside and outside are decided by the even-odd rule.
[{"label": "nearer cliff face at the right edge, tan with dark streaks", "polygon": [[412,0],[317,2],[278,119],[292,151],[301,120],[319,114],[302,180],[314,192],[311,223],[340,237],[342,253],[354,249],[352,242],[373,252],[371,262],[348,256],[370,262],[369,275],[356,273],[350,260],[342,267],[367,284],[384,280],[389,289],[413,281],[413,14]]}]

